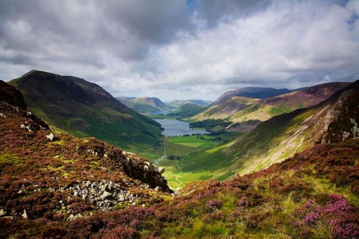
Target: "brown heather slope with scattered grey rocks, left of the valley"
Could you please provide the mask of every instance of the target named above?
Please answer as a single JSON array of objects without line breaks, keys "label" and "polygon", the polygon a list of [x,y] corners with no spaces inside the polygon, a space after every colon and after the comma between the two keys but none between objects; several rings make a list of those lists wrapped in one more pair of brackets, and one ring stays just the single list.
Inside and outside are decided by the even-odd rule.
[{"label": "brown heather slope with scattered grey rocks, left of the valley", "polygon": [[171,192],[163,169],[143,157],[93,137],[55,135],[9,103],[0,102],[0,217],[72,220],[153,204]]}]

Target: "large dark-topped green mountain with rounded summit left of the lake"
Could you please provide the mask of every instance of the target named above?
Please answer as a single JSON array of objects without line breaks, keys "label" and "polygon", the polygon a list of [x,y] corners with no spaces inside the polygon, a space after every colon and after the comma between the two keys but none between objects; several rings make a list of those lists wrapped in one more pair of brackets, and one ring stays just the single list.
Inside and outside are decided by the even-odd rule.
[{"label": "large dark-topped green mountain with rounded summit left of the lake", "polygon": [[32,70],[9,84],[21,91],[30,111],[61,131],[135,151],[158,140],[157,122],[84,79]]}]

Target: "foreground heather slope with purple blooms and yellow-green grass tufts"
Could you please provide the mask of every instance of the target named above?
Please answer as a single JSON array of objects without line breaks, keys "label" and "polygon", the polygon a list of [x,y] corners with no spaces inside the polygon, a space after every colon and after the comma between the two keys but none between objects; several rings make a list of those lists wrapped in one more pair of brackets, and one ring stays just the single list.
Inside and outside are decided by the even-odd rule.
[{"label": "foreground heather slope with purple blooms and yellow-green grass tufts", "polygon": [[[358,238],[359,144],[322,144],[264,171],[186,185],[152,207],[0,218],[1,238]],[[57,221],[55,221],[57,220]]]}]

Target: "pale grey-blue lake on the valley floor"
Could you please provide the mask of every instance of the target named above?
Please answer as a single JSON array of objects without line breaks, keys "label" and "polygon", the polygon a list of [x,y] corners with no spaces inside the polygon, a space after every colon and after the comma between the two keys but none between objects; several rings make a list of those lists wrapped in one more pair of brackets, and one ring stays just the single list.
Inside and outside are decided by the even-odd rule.
[{"label": "pale grey-blue lake on the valley floor", "polygon": [[179,120],[155,120],[162,125],[164,131],[162,131],[162,135],[164,136],[180,136],[180,135],[195,135],[197,133],[207,134],[207,131],[200,129],[192,129],[189,127],[187,122],[179,121]]}]

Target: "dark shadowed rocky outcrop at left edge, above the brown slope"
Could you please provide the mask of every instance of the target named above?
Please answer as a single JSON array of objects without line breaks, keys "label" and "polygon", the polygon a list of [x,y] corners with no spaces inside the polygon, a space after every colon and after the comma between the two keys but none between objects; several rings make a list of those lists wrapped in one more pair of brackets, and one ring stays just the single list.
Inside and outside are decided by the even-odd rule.
[{"label": "dark shadowed rocky outcrop at left edge, above the brown slope", "polygon": [[0,80],[0,102],[1,101],[22,108],[23,110],[26,109],[26,104],[21,92],[14,88],[14,86],[10,86]]}]

